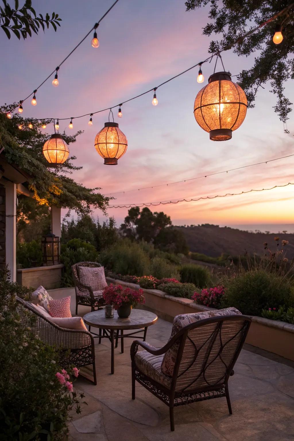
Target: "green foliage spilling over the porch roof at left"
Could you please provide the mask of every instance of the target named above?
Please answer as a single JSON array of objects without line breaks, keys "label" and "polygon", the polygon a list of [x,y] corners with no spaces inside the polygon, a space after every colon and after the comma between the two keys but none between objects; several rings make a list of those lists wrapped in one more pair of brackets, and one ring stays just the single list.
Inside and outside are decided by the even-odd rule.
[{"label": "green foliage spilling over the porch roof at left", "polygon": [[[68,215],[71,210],[85,215],[96,208],[106,213],[109,198],[97,192],[99,187],[84,187],[67,176],[72,170],[82,168],[72,164],[76,157],[70,157],[56,168],[49,167],[42,153],[42,147],[50,137],[48,133],[41,132],[43,121],[34,121],[33,128],[29,129],[30,119],[22,118],[18,113],[11,120],[6,117],[6,112],[15,110],[16,106],[14,103],[0,107],[0,149],[4,147],[1,155],[31,176],[27,185],[38,204],[68,208]],[[19,125],[22,125],[22,130],[19,130]],[[62,136],[70,144],[76,142],[76,137],[81,133],[78,131],[72,136],[63,133]]]}]

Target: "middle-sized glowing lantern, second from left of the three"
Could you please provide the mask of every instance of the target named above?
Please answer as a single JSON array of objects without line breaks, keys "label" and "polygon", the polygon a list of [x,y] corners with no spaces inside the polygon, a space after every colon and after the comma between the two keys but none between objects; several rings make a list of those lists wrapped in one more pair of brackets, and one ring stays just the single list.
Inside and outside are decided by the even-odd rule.
[{"label": "middle-sized glowing lantern, second from left of the three", "polygon": [[95,149],[104,158],[104,164],[116,165],[127,151],[127,138],[118,123],[105,123],[95,138]]}]

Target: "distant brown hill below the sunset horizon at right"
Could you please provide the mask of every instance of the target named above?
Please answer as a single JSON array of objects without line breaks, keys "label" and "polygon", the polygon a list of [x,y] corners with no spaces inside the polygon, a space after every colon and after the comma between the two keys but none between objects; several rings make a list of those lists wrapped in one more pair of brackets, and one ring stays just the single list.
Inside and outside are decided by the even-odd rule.
[{"label": "distant brown hill below the sunset horizon at right", "polygon": [[262,254],[264,242],[267,242],[269,249],[274,251],[276,247],[274,237],[278,236],[280,245],[283,239],[289,241],[289,245],[286,246],[286,256],[288,259],[294,258],[294,234],[253,233],[212,224],[177,226],[175,228],[185,235],[190,251],[203,253],[207,256],[218,257],[222,253],[238,256],[243,255],[245,251],[248,251],[249,254],[253,254],[254,251],[257,254]]}]

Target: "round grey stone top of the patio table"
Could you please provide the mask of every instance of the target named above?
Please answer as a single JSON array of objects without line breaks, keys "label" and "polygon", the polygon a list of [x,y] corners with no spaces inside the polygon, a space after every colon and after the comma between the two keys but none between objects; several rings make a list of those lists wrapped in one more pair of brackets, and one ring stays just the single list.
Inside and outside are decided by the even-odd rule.
[{"label": "round grey stone top of the patio table", "polygon": [[104,310],[93,311],[83,317],[85,323],[101,329],[140,329],[154,325],[157,315],[142,309],[132,309],[130,317],[120,318],[114,311],[113,318],[105,318]]}]

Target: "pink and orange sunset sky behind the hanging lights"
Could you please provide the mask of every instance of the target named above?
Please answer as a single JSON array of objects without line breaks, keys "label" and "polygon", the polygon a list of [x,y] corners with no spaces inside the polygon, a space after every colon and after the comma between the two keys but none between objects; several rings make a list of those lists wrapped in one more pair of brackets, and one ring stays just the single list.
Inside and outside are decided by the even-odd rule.
[{"label": "pink and orange sunset sky behind the hanging lights", "polygon": [[[0,30],[0,56],[5,60],[0,66],[1,102],[26,97],[112,3],[39,0],[33,2],[37,13],[55,11],[62,18],[56,33],[50,27],[45,34],[40,32],[19,42],[14,36],[8,41]],[[157,86],[208,56],[211,38],[201,35],[207,16],[207,8],[186,12],[184,0],[120,0],[97,30],[100,47],[91,47],[90,35],[60,68],[59,87],[52,86],[52,76],[37,92],[37,106],[31,106],[30,100],[24,103],[23,116],[78,116]],[[239,58],[232,50],[223,53],[224,66],[232,75],[251,67],[253,59],[254,55]],[[92,127],[88,126],[89,117],[73,120],[74,131],[84,130],[70,145],[71,154],[77,156],[76,164],[83,166],[74,172],[74,179],[88,187],[101,187],[104,194],[134,189],[116,194],[115,204],[197,198],[294,182],[294,157],[290,157],[182,184],[135,190],[294,153],[294,113],[287,124],[290,135],[285,135],[283,123],[272,108],[276,100],[269,84],[258,91],[255,108],[247,111],[244,123],[230,141],[209,140],[208,133],[194,119],[193,105],[214,63],[203,65],[202,85],[197,83],[194,69],[160,87],[156,107],[151,103],[153,93],[149,93],[123,105],[121,119],[116,116],[118,109],[114,109],[115,121],[128,138],[127,153],[117,166],[104,165],[94,148],[95,135],[108,121],[108,112],[94,115]],[[287,83],[286,93],[293,101],[293,82]],[[73,132],[68,123],[60,122],[60,133],[64,129]],[[53,126],[48,127],[49,135],[52,131]],[[294,186],[154,210],[170,215],[173,224],[293,224]],[[98,210],[94,215],[104,219]],[[108,209],[108,215],[119,224],[127,209]]]}]

